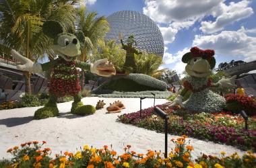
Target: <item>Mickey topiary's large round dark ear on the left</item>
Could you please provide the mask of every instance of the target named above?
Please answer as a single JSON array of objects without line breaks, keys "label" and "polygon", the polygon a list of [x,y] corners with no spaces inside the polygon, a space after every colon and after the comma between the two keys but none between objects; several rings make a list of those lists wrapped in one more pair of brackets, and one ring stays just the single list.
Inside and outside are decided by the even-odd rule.
[{"label": "Mickey topiary's large round dark ear on the left", "polygon": [[42,25],[42,32],[50,38],[55,38],[57,34],[63,33],[63,27],[55,20],[48,20]]}]

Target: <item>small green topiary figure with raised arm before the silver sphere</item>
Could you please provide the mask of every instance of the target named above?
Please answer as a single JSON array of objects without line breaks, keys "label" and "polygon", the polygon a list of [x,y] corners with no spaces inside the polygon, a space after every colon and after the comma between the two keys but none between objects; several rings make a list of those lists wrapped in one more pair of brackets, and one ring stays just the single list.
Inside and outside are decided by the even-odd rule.
[{"label": "small green topiary figure with raised arm before the silver sphere", "polygon": [[127,39],[127,45],[123,44],[123,38],[121,34],[119,34],[119,39],[121,41],[121,44],[123,46],[123,49],[126,50],[125,55],[125,64],[123,65],[123,71],[125,73],[136,73],[137,71],[137,64],[135,62],[135,55],[134,54],[141,54],[136,48],[133,47],[133,43],[136,44],[134,40],[134,36],[131,35]]}]

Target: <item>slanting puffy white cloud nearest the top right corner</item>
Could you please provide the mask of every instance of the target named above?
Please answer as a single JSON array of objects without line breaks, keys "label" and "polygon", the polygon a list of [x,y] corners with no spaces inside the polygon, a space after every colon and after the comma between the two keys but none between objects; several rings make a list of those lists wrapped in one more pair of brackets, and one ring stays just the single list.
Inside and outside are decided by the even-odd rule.
[{"label": "slanting puffy white cloud nearest the top right corner", "polygon": [[[249,1],[243,0],[238,3],[230,3],[229,5],[225,5],[224,3],[220,4],[218,11],[219,13],[215,13],[218,15],[215,22],[201,22],[202,32],[204,33],[214,33],[220,30],[223,30],[225,26],[237,22],[245,17],[249,17],[253,14],[253,9],[248,7]],[[221,14],[220,14],[221,13]],[[214,15],[214,14],[213,14]]]}]

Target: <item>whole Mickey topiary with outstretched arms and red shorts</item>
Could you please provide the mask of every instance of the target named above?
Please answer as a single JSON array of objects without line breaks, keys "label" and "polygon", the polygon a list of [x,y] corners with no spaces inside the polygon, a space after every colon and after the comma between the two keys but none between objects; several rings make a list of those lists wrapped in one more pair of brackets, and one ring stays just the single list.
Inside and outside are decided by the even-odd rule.
[{"label": "whole Mickey topiary with outstretched arms and red shorts", "polygon": [[58,116],[57,98],[66,95],[74,98],[71,113],[79,115],[93,114],[95,108],[84,106],[81,101],[82,96],[79,93],[81,87],[77,68],[90,70],[100,76],[110,77],[115,75],[114,66],[108,64],[106,59],[97,60],[94,64],[75,59],[76,56],[81,54],[80,42],[84,42],[86,38],[82,32],[76,32],[75,34],[65,33],[61,24],[56,21],[44,22],[42,31],[46,36],[53,38],[53,50],[55,54],[58,54],[59,58],[44,64],[37,64],[15,50],[11,50],[13,58],[20,61],[20,65],[17,66],[18,69],[33,73],[47,71],[47,74],[49,74],[49,101],[44,108],[40,108],[35,112],[34,118],[42,119]]}]

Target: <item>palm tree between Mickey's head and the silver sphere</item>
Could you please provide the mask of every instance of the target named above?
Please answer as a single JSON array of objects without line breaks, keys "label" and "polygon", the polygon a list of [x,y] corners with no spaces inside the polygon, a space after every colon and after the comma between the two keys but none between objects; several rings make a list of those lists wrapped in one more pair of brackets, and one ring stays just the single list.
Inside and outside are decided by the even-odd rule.
[{"label": "palm tree between Mickey's head and the silver sphere", "polygon": [[[84,5],[77,9],[77,29],[81,30],[84,36],[90,39],[82,44],[82,54],[79,60],[84,62],[86,62],[92,49],[98,47],[99,40],[103,40],[109,30],[106,17],[97,17],[97,15],[98,13],[95,11],[89,12]],[[84,88],[84,70],[82,70],[81,87]]]}]

